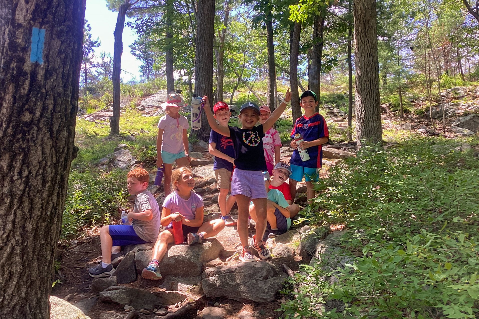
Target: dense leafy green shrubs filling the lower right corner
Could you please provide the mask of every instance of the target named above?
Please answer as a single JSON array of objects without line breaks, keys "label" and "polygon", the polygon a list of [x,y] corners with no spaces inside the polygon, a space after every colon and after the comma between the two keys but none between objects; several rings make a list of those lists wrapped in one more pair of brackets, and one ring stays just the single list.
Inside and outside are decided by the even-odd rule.
[{"label": "dense leafy green shrubs filling the lower right corner", "polygon": [[477,318],[479,162],[455,146],[368,147],[319,181],[302,218],[346,223],[341,246],[359,257],[345,269],[305,266],[285,318]]}]

